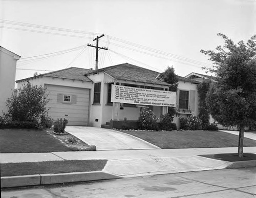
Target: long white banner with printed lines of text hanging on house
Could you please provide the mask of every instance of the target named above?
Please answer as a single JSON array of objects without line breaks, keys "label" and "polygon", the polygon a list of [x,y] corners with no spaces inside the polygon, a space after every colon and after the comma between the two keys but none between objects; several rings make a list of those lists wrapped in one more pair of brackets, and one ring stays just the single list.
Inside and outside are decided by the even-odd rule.
[{"label": "long white banner with printed lines of text hanging on house", "polygon": [[111,102],[152,106],[175,106],[176,92],[112,84]]}]

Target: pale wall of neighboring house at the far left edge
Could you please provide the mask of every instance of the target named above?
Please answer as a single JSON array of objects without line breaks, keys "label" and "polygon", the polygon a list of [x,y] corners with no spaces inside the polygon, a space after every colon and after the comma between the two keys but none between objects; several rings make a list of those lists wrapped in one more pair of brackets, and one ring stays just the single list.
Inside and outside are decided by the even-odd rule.
[{"label": "pale wall of neighboring house at the far left edge", "polygon": [[11,97],[15,86],[16,63],[19,55],[0,46],[0,116],[7,112],[6,100]]}]

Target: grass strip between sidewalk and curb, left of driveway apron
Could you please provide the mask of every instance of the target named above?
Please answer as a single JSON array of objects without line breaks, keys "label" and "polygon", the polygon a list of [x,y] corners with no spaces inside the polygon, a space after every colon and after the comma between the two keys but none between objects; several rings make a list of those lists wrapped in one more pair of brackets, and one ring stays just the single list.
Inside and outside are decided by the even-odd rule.
[{"label": "grass strip between sidewalk and curb, left of driveway apron", "polygon": [[1,177],[102,170],[108,160],[67,160],[1,164]]}]

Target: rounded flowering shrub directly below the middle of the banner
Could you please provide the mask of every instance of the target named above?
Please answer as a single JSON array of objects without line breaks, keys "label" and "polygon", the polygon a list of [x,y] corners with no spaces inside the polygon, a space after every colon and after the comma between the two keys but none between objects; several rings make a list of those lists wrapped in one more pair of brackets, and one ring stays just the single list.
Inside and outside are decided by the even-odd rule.
[{"label": "rounded flowering shrub directly below the middle of the banner", "polygon": [[144,109],[140,113],[140,117],[138,119],[138,125],[140,129],[153,130],[156,127],[156,122],[157,122],[156,115],[151,109],[149,110]]}]

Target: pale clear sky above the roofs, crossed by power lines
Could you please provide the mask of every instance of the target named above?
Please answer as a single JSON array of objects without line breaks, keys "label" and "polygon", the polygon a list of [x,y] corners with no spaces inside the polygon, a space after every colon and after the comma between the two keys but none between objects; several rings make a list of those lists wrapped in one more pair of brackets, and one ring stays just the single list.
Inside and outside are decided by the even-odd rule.
[{"label": "pale clear sky above the roofs, crossed by power lines", "polygon": [[256,34],[256,0],[0,0],[0,27],[0,46],[21,56],[16,80],[95,69],[96,49],[87,44],[101,34],[99,47],[108,50],[99,50],[99,68],[129,62],[205,74],[212,63],[200,50],[223,45],[217,33],[234,42]]}]

